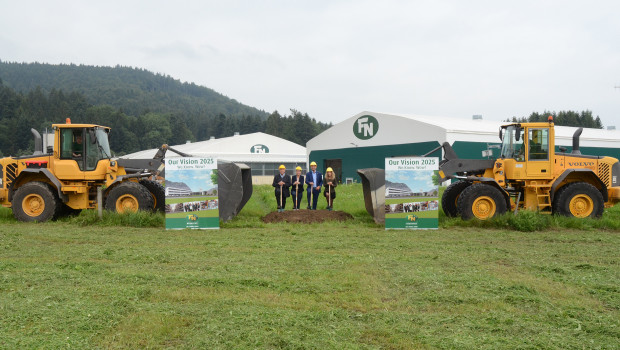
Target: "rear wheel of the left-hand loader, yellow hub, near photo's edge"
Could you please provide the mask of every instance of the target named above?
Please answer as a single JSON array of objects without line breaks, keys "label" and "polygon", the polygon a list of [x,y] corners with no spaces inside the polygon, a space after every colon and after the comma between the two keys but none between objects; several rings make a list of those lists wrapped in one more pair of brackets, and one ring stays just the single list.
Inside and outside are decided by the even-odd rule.
[{"label": "rear wheel of the left-hand loader, yellow hub, near photo's edge", "polygon": [[39,181],[29,182],[13,196],[13,216],[19,221],[50,220],[58,215],[62,203],[52,186]]}]

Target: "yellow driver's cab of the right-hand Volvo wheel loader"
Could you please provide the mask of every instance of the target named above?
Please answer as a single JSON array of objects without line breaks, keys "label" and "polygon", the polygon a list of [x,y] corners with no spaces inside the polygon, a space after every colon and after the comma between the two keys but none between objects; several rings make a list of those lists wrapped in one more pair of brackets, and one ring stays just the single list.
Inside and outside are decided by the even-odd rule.
[{"label": "yellow driver's cab of the right-hand Volvo wheel loader", "polygon": [[522,123],[502,126],[501,157],[509,179],[550,179],[553,177],[553,123]]}]

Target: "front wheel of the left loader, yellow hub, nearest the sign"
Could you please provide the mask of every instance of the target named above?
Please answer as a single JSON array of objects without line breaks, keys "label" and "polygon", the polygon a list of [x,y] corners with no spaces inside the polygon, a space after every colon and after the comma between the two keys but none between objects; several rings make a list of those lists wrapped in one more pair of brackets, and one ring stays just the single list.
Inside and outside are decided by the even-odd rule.
[{"label": "front wheel of the left loader, yellow hub, nearest the sign", "polygon": [[137,182],[127,181],[112,188],[105,201],[107,210],[118,213],[135,213],[138,210],[153,210],[153,196]]}]

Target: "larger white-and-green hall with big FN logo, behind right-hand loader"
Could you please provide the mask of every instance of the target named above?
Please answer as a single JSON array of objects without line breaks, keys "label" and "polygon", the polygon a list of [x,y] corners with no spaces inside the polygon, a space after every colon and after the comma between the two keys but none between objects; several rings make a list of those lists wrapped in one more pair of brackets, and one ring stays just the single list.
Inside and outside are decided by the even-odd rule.
[{"label": "larger white-and-green hall with big FN logo, behind right-hand loader", "polygon": [[[338,179],[359,181],[362,168],[384,168],[385,158],[423,155],[449,142],[461,158],[483,158],[490,150],[494,157],[501,143],[499,128],[508,122],[474,118],[446,118],[364,111],[335,124],[306,144],[308,161],[320,170],[332,167]],[[564,146],[572,150],[575,127],[556,126],[556,150]],[[620,158],[620,131],[584,129],[581,152]],[[441,157],[437,151],[431,156]]]}]

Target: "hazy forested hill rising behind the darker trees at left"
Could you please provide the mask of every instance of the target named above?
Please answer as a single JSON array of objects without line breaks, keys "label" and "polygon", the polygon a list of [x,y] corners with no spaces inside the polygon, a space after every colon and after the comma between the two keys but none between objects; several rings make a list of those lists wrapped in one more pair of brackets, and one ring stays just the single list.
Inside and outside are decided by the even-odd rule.
[{"label": "hazy forested hill rising behind the darker trees at left", "polygon": [[211,116],[266,118],[268,115],[209,88],[131,67],[0,61],[0,79],[5,86],[22,93],[37,86],[44,93],[52,89],[79,92],[90,104],[109,105],[134,116],[146,112],[197,114],[205,111]]}]

